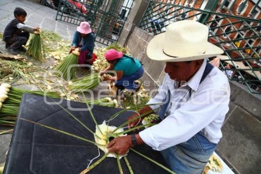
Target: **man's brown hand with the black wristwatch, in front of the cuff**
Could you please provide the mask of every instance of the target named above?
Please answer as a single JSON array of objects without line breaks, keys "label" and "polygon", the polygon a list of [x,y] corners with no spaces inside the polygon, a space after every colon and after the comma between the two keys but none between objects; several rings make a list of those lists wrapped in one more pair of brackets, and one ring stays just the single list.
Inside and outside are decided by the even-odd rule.
[{"label": "man's brown hand with the black wristwatch, in front of the cuff", "polygon": [[109,144],[106,146],[108,148],[110,153],[117,153],[119,155],[125,155],[129,148],[134,147],[131,141],[131,136],[119,136],[112,141],[109,142]]}]

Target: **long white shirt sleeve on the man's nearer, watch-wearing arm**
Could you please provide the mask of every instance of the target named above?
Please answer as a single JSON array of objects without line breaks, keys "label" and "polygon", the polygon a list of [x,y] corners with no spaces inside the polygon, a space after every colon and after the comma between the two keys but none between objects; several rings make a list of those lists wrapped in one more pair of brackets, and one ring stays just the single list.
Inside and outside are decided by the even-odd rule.
[{"label": "long white shirt sleeve on the man's nearer, watch-wearing arm", "polygon": [[154,150],[164,150],[189,140],[215,118],[225,115],[230,95],[228,90],[205,88],[195,91],[189,101],[161,123],[141,131],[140,137]]}]

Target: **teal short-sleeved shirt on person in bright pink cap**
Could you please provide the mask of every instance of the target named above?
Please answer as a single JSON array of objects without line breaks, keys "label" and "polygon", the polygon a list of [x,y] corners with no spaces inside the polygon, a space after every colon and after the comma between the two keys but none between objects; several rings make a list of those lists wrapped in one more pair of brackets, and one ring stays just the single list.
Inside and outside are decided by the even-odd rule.
[{"label": "teal short-sleeved shirt on person in bright pink cap", "polygon": [[138,61],[138,59],[134,58],[133,61],[132,58],[123,55],[123,57],[120,58],[115,64],[114,70],[123,71],[123,76],[129,76],[135,73],[140,67],[141,63]]}]

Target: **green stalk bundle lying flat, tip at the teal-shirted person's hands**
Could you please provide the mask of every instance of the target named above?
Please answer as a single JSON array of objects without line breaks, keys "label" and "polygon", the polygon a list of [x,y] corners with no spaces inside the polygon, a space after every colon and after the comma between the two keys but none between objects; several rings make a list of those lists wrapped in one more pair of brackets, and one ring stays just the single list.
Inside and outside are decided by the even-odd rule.
[{"label": "green stalk bundle lying flat, tip at the teal-shirted person's hands", "polygon": [[103,81],[103,77],[98,73],[88,74],[78,79],[68,82],[68,88],[74,92],[84,92],[88,89],[94,89],[99,85],[99,82]]}]

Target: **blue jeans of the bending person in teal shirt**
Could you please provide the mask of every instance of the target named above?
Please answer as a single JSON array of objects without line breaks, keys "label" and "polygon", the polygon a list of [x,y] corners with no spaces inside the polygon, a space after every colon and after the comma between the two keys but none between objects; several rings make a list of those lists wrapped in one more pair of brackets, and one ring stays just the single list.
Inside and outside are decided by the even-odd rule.
[{"label": "blue jeans of the bending person in teal shirt", "polygon": [[144,69],[141,65],[140,68],[137,71],[135,71],[133,74],[128,76],[123,76],[120,80],[116,82],[116,85],[122,85],[126,89],[135,89],[134,81],[141,78],[143,73],[144,73]]}]

